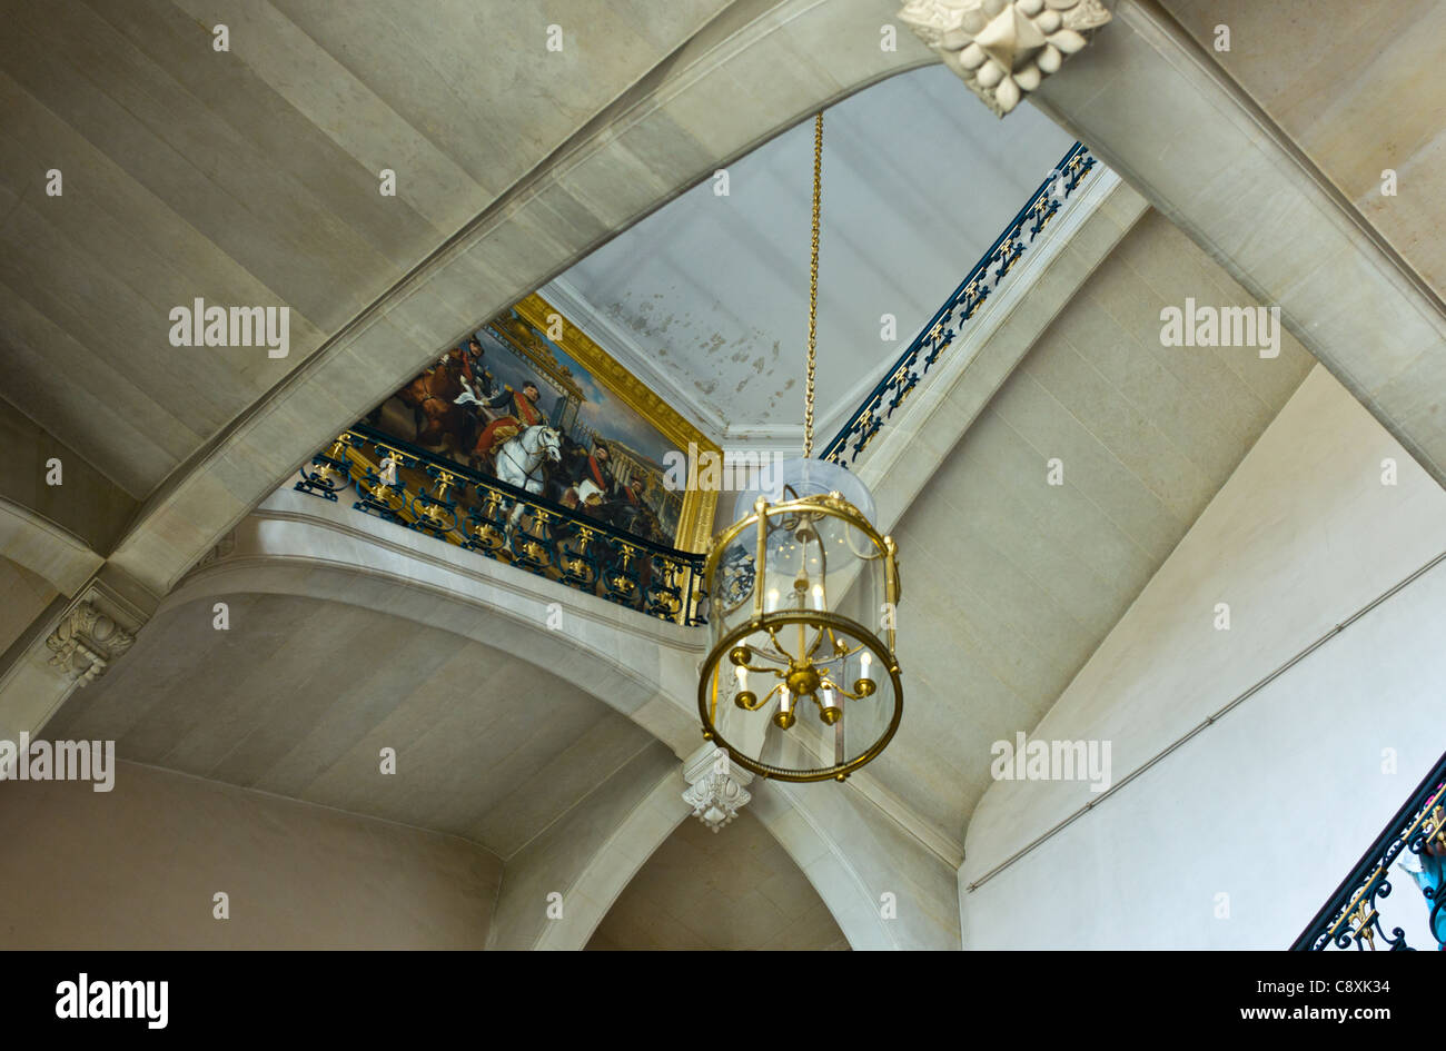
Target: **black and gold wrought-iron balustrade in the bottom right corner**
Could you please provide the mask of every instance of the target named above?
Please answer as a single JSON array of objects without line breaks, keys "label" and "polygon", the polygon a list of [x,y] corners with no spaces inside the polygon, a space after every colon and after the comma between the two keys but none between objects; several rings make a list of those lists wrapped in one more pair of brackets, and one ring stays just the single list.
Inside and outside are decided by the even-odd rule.
[{"label": "black and gold wrought-iron balustrade in the bottom right corner", "polygon": [[[1392,866],[1395,872],[1392,873]],[[1407,867],[1410,866],[1410,867]],[[1336,888],[1310,927],[1296,938],[1293,950],[1411,950],[1446,948],[1446,755],[1426,776],[1406,805],[1377,837],[1356,866]],[[1400,895],[1394,908],[1420,909],[1427,937],[1436,944],[1410,945],[1400,927],[1404,914],[1395,914],[1391,932],[1382,925],[1381,905],[1391,898],[1395,883]],[[1414,886],[1413,886],[1414,885]],[[1424,896],[1424,904],[1421,898]]]}]

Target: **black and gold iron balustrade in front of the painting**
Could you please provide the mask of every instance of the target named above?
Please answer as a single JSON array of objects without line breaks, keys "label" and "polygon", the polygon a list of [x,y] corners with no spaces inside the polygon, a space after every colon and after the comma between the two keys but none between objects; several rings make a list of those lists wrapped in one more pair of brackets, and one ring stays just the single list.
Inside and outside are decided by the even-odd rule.
[{"label": "black and gold iron balustrade in front of the painting", "polygon": [[357,425],[296,489],[680,625],[701,625],[703,555],[633,536]]}]

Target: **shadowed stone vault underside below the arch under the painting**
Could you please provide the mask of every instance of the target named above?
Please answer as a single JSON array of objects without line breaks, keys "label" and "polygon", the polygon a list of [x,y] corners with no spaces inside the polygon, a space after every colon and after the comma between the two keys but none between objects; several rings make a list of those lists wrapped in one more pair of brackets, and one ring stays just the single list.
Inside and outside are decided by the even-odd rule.
[{"label": "shadowed stone vault underside below the arch under the painting", "polygon": [[[286,596],[163,613],[46,729],[116,755],[516,853],[652,737],[526,661]],[[380,750],[396,749],[396,773]]]}]

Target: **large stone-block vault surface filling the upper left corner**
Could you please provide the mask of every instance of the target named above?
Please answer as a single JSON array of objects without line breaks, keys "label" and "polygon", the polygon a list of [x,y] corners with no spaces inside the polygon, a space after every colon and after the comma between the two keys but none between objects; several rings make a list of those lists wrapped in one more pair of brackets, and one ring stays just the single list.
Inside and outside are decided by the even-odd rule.
[{"label": "large stone-block vault surface filling the upper left corner", "polygon": [[[0,3],[0,389],[145,497],[724,7]],[[169,346],[197,296],[289,356]]]}]

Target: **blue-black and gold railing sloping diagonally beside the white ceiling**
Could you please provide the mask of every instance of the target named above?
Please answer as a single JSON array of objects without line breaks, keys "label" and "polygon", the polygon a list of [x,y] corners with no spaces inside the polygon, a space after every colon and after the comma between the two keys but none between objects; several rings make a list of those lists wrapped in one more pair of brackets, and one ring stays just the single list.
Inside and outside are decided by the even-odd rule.
[{"label": "blue-black and gold railing sloping diagonally beside the white ceiling", "polygon": [[855,467],[873,438],[894,418],[894,413],[928,374],[928,370],[949,351],[969,319],[979,312],[985,301],[998,289],[1004,276],[1034,246],[1044,227],[1058,215],[1060,208],[1080,188],[1084,176],[1096,163],[1082,143],[1070,146],[1060,163],[1054,166],[1050,178],[1034,191],[1014,221],[1005,227],[993,246],[969,272],[969,276],[944,301],[944,305],[914,343],[894,363],[888,376],[863,399],[843,429],[824,447],[820,454],[824,460],[850,470]]}]

